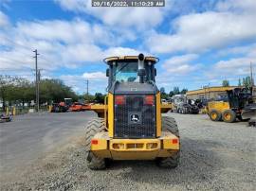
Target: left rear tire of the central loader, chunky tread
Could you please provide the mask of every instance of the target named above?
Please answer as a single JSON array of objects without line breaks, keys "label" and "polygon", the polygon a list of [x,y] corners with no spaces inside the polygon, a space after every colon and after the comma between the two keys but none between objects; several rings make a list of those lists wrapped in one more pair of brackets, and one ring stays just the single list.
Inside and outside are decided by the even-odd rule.
[{"label": "left rear tire of the central loader, chunky tread", "polygon": [[87,166],[93,170],[100,170],[106,167],[105,159],[97,157],[93,154],[91,149],[91,140],[98,132],[105,130],[104,121],[101,118],[93,119],[89,121],[85,128],[85,149],[87,153]]}]

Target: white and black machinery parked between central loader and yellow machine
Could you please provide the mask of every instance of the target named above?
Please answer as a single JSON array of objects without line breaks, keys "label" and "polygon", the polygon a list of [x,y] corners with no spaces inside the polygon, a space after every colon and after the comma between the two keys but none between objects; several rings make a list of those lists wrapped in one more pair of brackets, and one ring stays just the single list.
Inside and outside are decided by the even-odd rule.
[{"label": "white and black machinery parked between central loader and yellow machine", "polygon": [[175,95],[174,112],[182,114],[198,114],[199,108],[192,99],[187,99],[186,95]]}]

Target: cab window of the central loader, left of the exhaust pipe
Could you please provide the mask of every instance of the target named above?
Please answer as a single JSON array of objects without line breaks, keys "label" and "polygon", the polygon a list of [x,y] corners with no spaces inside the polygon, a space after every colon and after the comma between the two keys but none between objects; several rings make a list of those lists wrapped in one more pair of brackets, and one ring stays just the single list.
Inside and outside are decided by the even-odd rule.
[{"label": "cab window of the central loader, left of the exhaust pipe", "polygon": [[119,82],[138,81],[137,61],[136,62],[118,62],[114,67],[114,80]]}]

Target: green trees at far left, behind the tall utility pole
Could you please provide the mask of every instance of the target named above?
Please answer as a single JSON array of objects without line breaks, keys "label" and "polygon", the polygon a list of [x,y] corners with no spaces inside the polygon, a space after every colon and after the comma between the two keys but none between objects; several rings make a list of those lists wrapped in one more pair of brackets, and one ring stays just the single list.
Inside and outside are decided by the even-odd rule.
[{"label": "green trees at far left, behind the tall utility pole", "polygon": [[[74,91],[64,85],[60,79],[43,79],[40,81],[40,103],[50,103],[64,101],[64,98],[78,100]],[[23,107],[25,103],[35,100],[35,83],[26,78],[12,78],[0,75],[0,99],[3,101],[3,110],[6,104],[20,104]]]}]

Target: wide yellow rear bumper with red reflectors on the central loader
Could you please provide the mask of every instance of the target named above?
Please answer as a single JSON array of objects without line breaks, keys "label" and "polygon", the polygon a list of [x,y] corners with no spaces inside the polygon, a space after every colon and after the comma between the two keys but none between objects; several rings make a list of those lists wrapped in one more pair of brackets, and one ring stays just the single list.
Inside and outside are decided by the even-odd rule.
[{"label": "wide yellow rear bumper with red reflectors on the central loader", "polygon": [[113,139],[108,132],[99,132],[92,139],[91,150],[98,157],[114,160],[154,160],[172,156],[179,150],[178,137],[168,131],[162,134],[156,139]]}]

